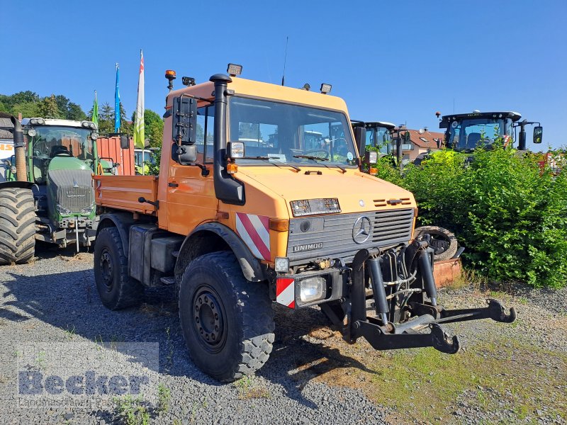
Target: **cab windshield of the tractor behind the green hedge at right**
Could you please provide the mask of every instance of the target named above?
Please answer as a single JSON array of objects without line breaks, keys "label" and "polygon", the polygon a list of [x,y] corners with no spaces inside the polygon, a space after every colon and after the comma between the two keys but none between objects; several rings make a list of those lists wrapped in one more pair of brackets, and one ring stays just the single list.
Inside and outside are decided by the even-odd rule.
[{"label": "cab windshield of the tractor behind the green hedge at right", "polygon": [[447,146],[455,150],[464,150],[491,145],[498,137],[510,134],[511,122],[508,121],[510,120],[496,118],[453,121],[449,125]]}]

